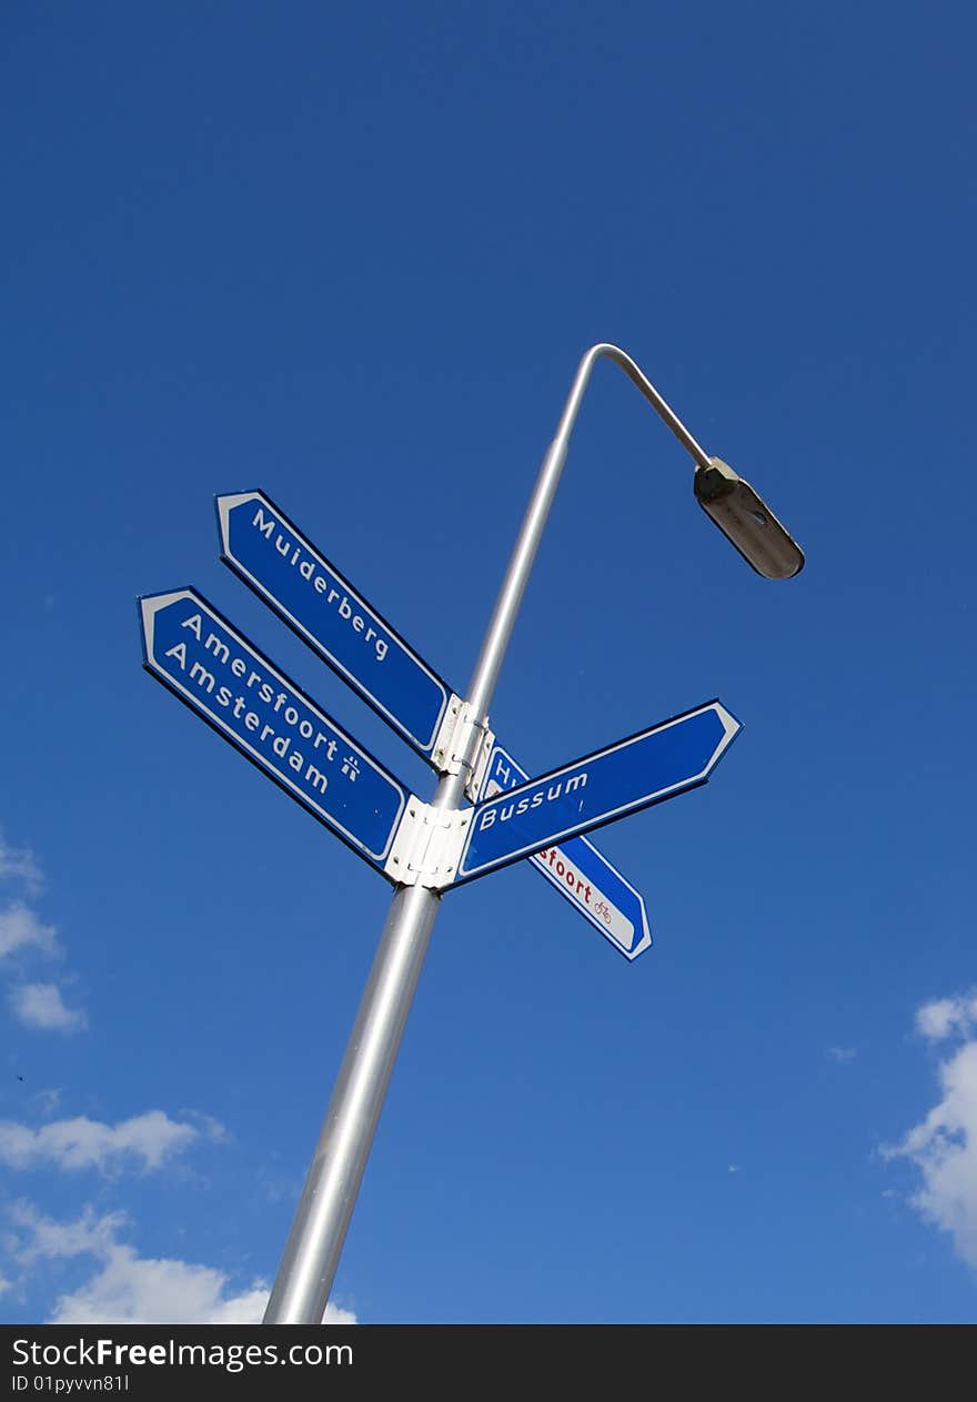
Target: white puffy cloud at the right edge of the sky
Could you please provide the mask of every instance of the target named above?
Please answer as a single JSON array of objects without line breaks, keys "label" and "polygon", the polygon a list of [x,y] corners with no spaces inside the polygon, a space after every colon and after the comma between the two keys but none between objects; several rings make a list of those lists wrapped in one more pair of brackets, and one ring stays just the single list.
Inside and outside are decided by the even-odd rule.
[{"label": "white puffy cloud at the right edge of the sky", "polygon": [[[935,1040],[973,1028],[974,1000],[942,998],[924,1004],[917,1028]],[[913,1207],[948,1231],[969,1266],[977,1269],[977,1040],[964,1040],[939,1066],[942,1099],[899,1144],[883,1145],[883,1158],[906,1158],[921,1173]]]}]

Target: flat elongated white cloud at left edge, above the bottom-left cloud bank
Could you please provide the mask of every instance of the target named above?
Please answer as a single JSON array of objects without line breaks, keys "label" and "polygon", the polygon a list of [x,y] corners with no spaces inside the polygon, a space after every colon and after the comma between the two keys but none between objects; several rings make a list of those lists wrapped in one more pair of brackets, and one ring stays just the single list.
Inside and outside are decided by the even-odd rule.
[{"label": "flat elongated white cloud at left edge, above the bottom-left cloud bank", "polygon": [[[223,1136],[223,1126],[216,1120],[205,1119],[203,1123],[210,1138]],[[107,1173],[126,1159],[137,1159],[149,1172],[161,1168],[199,1137],[200,1131],[192,1124],[171,1120],[163,1110],[147,1110],[115,1126],[84,1116],[55,1120],[36,1130],[1,1120],[0,1162],[20,1169],[56,1164],[66,1169],[97,1168]]]}]

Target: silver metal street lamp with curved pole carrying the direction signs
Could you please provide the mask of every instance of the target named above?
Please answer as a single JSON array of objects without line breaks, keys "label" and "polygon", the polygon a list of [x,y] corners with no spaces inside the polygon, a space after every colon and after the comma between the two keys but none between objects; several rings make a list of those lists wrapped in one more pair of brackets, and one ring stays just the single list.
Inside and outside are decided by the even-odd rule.
[{"label": "silver metal street lamp with curved pole carrying the direction signs", "polygon": [[[578,366],[555,437],[542,460],[468,687],[467,712],[474,723],[461,739],[453,773],[442,774],[437,782],[430,803],[433,813],[449,815],[463,805],[580,401],[601,358],[614,360],[624,370],[692,456],[699,503],[750,565],[768,579],[786,579],[803,565],[799,547],[753,488],[699,447],[631,356],[613,345],[592,346]],[[440,892],[429,886],[398,886],[394,893],[268,1301],[265,1323],[320,1323],[322,1319],[439,908]]]}]

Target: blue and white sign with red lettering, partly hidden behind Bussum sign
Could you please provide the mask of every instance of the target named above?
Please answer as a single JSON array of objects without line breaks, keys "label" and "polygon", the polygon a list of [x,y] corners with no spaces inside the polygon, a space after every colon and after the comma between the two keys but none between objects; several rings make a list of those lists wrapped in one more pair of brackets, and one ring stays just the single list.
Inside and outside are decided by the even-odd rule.
[{"label": "blue and white sign with red lettering, partly hidden behind Bussum sign", "polygon": [[[496,744],[479,798],[493,798],[527,781],[526,770]],[[544,847],[528,861],[627,959],[649,948],[652,932],[643,899],[586,837],[571,837],[561,847]]]}]

